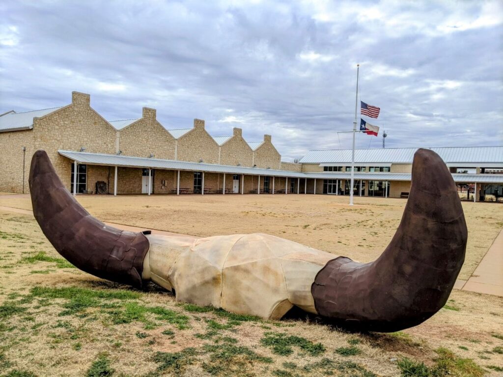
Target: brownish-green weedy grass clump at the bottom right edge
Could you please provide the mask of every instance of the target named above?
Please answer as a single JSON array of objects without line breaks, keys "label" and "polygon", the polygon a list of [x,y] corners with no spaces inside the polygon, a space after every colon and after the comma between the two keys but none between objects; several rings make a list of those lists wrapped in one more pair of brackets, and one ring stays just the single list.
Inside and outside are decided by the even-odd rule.
[{"label": "brownish-green weedy grass clump at the bottom right edge", "polygon": [[402,377],[482,377],[485,372],[473,360],[457,357],[447,348],[435,350],[438,357],[434,359],[435,364],[431,367],[423,362],[417,362],[407,357],[398,360],[398,368]]}]

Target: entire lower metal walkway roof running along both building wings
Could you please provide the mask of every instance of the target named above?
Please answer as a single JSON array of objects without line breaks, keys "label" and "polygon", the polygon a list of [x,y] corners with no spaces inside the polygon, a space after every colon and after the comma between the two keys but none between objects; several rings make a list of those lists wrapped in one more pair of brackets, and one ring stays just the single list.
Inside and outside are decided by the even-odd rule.
[{"label": "entire lower metal walkway roof running along both building wings", "polygon": [[[197,162],[161,160],[146,157],[118,156],[114,154],[74,152],[58,150],[58,153],[82,164],[123,166],[138,168],[156,168],[188,171],[206,171],[214,173],[269,175],[291,178],[318,179],[351,179],[351,172],[319,172],[300,173],[288,170],[262,169],[256,167],[242,167],[230,165],[205,164]],[[453,174],[455,182],[503,183],[503,174]],[[408,173],[363,173],[356,172],[355,179],[365,180],[405,180],[411,179]]]}]

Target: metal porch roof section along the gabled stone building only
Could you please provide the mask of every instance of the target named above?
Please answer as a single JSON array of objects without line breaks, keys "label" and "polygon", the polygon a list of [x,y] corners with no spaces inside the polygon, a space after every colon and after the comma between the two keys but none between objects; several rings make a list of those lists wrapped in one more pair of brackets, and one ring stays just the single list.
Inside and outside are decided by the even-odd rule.
[{"label": "metal porch roof section along the gabled stone building only", "polygon": [[248,175],[270,175],[270,176],[274,175],[281,177],[299,177],[299,178],[305,177],[303,173],[295,171],[262,169],[256,167],[216,165],[216,164],[205,164],[198,162],[161,160],[156,158],[118,156],[114,154],[74,152],[66,150],[58,150],[58,153],[71,160],[77,161],[78,163],[91,164],[91,165],[206,171],[214,173],[248,174]]}]

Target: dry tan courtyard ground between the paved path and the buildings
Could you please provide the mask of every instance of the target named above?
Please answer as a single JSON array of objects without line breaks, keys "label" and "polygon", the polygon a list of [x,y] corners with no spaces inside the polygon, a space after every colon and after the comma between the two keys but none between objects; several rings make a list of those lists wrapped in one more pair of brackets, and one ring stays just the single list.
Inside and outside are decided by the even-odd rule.
[{"label": "dry tan courtyard ground between the paved path and the buildings", "polygon": [[[406,200],[327,195],[77,196],[111,223],[194,236],[268,233],[361,262],[376,259],[400,223]],[[466,280],[503,228],[503,206],[462,202],[468,227]],[[31,210],[27,195],[0,196],[0,206]]]}]

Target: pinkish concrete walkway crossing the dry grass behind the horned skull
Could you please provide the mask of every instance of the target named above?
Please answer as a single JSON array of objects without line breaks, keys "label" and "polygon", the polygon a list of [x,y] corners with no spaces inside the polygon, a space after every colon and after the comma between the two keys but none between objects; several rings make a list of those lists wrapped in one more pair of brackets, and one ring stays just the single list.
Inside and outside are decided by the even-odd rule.
[{"label": "pinkish concrete walkway crossing the dry grass behind the horned skull", "polygon": [[[0,206],[0,210],[22,213],[33,216],[32,211],[19,208]],[[105,223],[107,225],[129,230],[131,232],[141,232],[146,228],[138,228],[124,224]],[[165,234],[172,236],[185,236],[185,234],[166,232],[163,230],[152,229],[152,234]],[[194,236],[190,236],[194,237]],[[196,237],[200,238],[200,237]],[[468,280],[457,279],[454,285],[455,289],[484,293],[503,297],[503,230],[496,236],[492,245],[487,250],[475,271]]]}]

